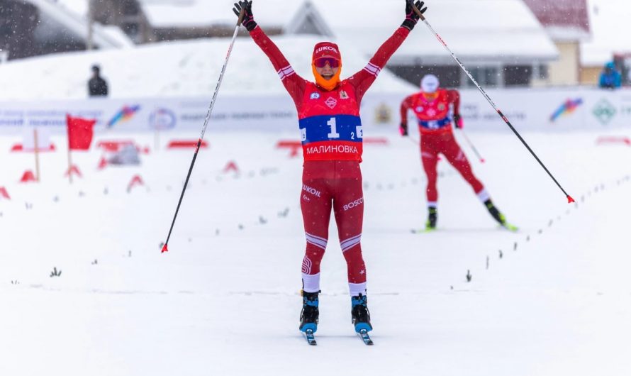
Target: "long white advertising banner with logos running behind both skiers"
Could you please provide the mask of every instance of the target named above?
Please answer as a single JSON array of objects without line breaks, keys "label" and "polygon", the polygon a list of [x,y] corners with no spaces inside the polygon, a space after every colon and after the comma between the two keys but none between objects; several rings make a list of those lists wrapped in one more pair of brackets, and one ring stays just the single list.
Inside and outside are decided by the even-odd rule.
[{"label": "long white advertising banner with logos running behind both skiers", "polygon": [[[460,112],[470,131],[506,131],[506,125],[477,90],[462,90]],[[367,94],[362,123],[396,131],[401,101],[412,92]],[[631,90],[498,89],[488,94],[518,131],[574,131],[631,127]],[[83,99],[0,102],[0,133],[24,128],[65,130],[66,114],[96,119],[96,133],[201,131],[209,98]],[[415,123],[408,114],[408,124]],[[289,95],[220,96],[208,131],[297,131]]]}]

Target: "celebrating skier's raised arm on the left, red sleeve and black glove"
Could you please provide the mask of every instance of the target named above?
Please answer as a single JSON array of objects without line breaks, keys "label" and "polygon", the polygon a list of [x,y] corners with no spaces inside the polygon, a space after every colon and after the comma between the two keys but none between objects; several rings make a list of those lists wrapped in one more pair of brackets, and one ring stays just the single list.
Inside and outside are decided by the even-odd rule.
[{"label": "celebrating skier's raised arm on the left, red sleeve and black glove", "polygon": [[254,16],[252,15],[252,1],[239,1],[238,4],[235,4],[233,11],[239,14],[242,7],[245,8],[245,17],[243,18],[242,25],[247,28],[252,39],[259,48],[265,52],[269,61],[272,62],[285,89],[289,92],[291,98],[294,99],[294,103],[301,103],[306,87],[305,80],[294,72],[294,68],[291,67],[289,61],[287,61],[278,46],[269,39],[267,34],[265,34],[262,28],[254,21]]}]

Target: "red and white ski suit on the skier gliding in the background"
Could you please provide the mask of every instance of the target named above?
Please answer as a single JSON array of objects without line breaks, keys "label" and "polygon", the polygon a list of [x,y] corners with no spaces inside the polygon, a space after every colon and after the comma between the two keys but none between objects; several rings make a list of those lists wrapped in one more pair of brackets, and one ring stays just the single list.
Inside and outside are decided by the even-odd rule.
[{"label": "red and white ski suit on the skier gliding in the background", "polygon": [[401,123],[407,123],[408,110],[412,110],[418,119],[420,132],[420,155],[423,169],[428,176],[428,206],[436,207],[438,191],[436,189],[436,165],[438,155],[445,155],[449,163],[471,184],[481,201],[488,199],[484,185],[475,177],[467,156],[456,143],[452,131],[453,114],[459,114],[460,94],[456,90],[438,89],[437,97],[428,100],[423,92],[412,94],[401,103]]}]

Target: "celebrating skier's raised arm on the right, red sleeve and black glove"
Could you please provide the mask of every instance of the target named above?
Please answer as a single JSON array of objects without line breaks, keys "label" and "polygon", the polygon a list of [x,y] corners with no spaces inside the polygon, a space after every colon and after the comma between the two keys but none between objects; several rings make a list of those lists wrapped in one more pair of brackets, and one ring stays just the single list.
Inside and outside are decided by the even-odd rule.
[{"label": "celebrating skier's raised arm on the right, red sleeve and black glove", "polygon": [[[406,0],[406,19],[401,24],[401,27],[381,45],[364,69],[360,70],[349,79],[349,82],[355,87],[358,102],[362,101],[362,97],[369,87],[371,87],[372,83],[379,75],[379,72],[384,69],[390,57],[398,50],[403,40],[406,40],[410,31],[412,31],[418,22],[419,17],[414,13],[412,3],[412,0]],[[415,4],[415,6],[420,9],[421,13],[427,11],[427,7],[423,8],[423,4],[425,4],[423,1],[416,1]]]}]

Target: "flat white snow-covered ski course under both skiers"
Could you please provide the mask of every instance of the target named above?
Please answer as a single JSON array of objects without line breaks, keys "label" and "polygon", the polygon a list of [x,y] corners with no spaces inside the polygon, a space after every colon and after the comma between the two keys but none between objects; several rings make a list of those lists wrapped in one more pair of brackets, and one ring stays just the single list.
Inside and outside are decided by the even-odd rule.
[{"label": "flat white snow-covered ski course under both skiers", "polygon": [[[297,130],[211,129],[164,254],[192,150],[99,171],[93,147],[73,153],[84,177],[71,185],[55,138],[42,182],[20,184],[33,155],[9,153],[20,139],[5,136],[0,375],[630,375],[631,148],[597,145],[603,135],[629,136],[524,135],[575,205],[508,130],[469,133],[484,164],[457,134],[520,231],[498,228],[443,160],[440,230],[413,234],[426,216],[418,147],[367,132],[389,140],[366,145],[362,163],[372,347],[350,323],[333,222],[318,346],[298,331],[301,157],[274,148]],[[93,145],[116,137],[130,135]],[[239,173],[223,172],[230,161]],[[145,186],[127,192],[137,174]]]}]

